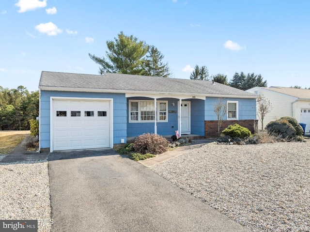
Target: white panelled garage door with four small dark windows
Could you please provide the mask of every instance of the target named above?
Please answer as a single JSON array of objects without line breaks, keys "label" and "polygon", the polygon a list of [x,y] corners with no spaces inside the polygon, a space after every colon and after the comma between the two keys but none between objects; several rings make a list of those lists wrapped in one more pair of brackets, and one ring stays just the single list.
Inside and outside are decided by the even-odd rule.
[{"label": "white panelled garage door with four small dark windows", "polygon": [[109,147],[110,101],[53,99],[53,150]]}]

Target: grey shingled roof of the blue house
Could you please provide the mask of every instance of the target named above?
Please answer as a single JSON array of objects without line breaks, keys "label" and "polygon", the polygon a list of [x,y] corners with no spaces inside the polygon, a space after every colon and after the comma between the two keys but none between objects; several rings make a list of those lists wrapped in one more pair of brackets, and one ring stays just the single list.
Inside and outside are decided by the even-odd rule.
[{"label": "grey shingled roof of the blue house", "polygon": [[248,93],[212,81],[149,77],[117,73],[103,75],[74,74],[42,71],[41,90],[83,91],[108,93],[178,94],[256,98]]}]

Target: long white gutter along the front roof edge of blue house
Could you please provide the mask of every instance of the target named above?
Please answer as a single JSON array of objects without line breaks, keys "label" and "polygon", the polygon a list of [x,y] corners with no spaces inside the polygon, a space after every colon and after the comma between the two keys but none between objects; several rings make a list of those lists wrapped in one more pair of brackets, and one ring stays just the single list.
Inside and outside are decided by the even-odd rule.
[{"label": "long white gutter along the front roof edge of blue house", "polygon": [[139,90],[111,90],[111,89],[88,89],[88,88],[76,88],[76,87],[54,87],[54,86],[39,86],[39,90],[44,91],[69,91],[69,92],[91,92],[91,93],[131,93],[131,94],[159,94],[159,95],[185,95],[185,96],[204,96],[204,97],[233,97],[233,98],[253,98],[256,99],[256,95],[230,95],[230,94],[202,94],[202,93],[160,93],[160,92],[145,92]]}]

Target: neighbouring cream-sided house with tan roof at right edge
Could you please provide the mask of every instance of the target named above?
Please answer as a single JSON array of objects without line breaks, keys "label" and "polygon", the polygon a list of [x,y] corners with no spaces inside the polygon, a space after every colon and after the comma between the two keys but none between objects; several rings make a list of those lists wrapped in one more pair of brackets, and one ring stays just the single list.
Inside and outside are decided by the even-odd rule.
[{"label": "neighbouring cream-sided house with tan roof at right edge", "polygon": [[[306,133],[310,131],[310,90],[271,86],[254,87],[247,92],[262,95],[272,104],[272,111],[263,120],[264,127],[280,117],[292,116],[298,123],[306,124]],[[261,128],[261,122],[258,123]]]}]

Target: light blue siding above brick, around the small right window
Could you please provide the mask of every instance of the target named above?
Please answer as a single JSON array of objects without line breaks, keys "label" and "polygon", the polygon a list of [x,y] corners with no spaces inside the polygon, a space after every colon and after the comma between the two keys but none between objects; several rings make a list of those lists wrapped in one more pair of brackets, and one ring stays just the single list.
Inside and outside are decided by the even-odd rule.
[{"label": "light blue siding above brick, around the small right window", "polygon": [[[207,97],[205,100],[204,120],[217,120],[217,116],[213,111],[217,99],[217,97]],[[222,101],[225,103],[226,101],[238,101],[239,120],[256,119],[256,99],[222,98]],[[226,116],[224,119],[226,120]]]}]

